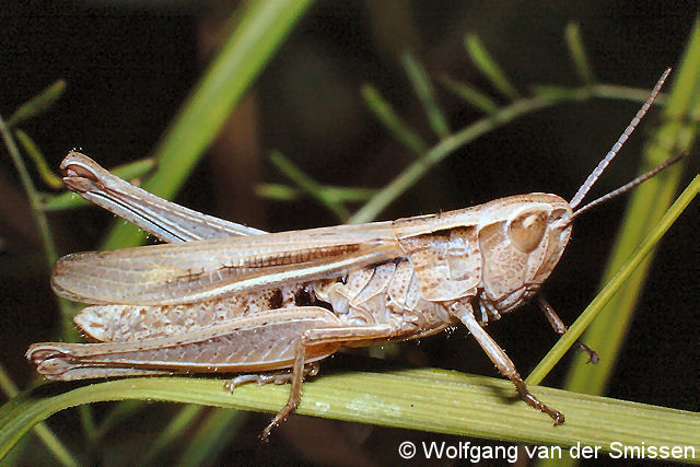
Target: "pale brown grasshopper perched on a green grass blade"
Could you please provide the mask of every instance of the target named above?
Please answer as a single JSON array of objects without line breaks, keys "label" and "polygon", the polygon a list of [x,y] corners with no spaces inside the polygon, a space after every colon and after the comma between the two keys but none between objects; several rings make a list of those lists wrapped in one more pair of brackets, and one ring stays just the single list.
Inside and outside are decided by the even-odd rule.
[{"label": "pale brown grasshopper perched on a green grass blade", "polygon": [[[59,259],[51,285],[90,304],[74,320],[97,343],[35,343],[26,358],[49,380],[242,373],[228,390],[290,382],[265,439],[299,405],[304,376],[340,348],[422,338],[462,323],[527,405],[563,423],[485,326],[537,294],[576,215],[679,159],[578,208],[669,71],[571,201],[534,192],[396,221],[267,233],[165,201],[71,151],[61,163],[71,190],[168,244]],[[551,306],[539,304],[563,334]]]}]

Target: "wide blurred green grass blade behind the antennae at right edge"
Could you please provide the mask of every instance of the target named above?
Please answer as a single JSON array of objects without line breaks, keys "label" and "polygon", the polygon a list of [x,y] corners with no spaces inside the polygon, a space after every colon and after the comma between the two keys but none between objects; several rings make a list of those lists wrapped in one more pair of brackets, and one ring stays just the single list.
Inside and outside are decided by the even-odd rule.
[{"label": "wide blurred green grass blade behind the antennae at right edge", "polygon": [[[684,118],[700,110],[700,22],[691,39],[664,109],[664,124],[653,135],[644,152],[644,164],[656,166],[678,153],[688,151],[697,139],[697,125]],[[648,180],[631,195],[614,254],[606,267],[603,283],[608,282],[649,230],[666,211],[678,188],[680,162],[657,177]],[[649,256],[632,275],[626,287],[615,295],[586,330],[586,345],[600,354],[617,355],[625,340],[632,311],[641,293],[651,265]],[[614,370],[614,359],[604,359],[592,369],[584,359],[575,358],[564,387],[578,393],[603,394]]]}]

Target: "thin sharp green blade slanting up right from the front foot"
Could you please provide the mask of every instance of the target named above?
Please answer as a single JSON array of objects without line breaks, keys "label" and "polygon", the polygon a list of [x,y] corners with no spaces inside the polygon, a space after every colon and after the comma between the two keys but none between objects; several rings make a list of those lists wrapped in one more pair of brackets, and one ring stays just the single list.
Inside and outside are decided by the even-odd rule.
[{"label": "thin sharp green blade slanting up right from the front foot", "polygon": [[[584,330],[591,325],[593,319],[603,307],[610,301],[615,293],[622,287],[625,281],[634,272],[637,267],[644,260],[644,258],[652,252],[654,246],[661,241],[662,236],[670,229],[673,223],[678,219],[680,213],[688,207],[690,201],[700,191],[700,175],[697,175],[690,185],[680,194],[678,199],[673,203],[664,217],[654,225],[650,234],[644,242],[634,252],[627,262],[620,268],[620,270],[610,279],[610,281],[603,288],[600,293],[591,302],[591,304],[579,316],[576,322],[569,328],[569,330],[559,339],[559,341],[551,348],[551,350],[545,355],[539,364],[527,376],[525,382],[527,384],[539,384],[545,376],[551,371],[557,362],[563,357],[569,348],[581,337]],[[593,371],[597,365],[594,366]]]}]

